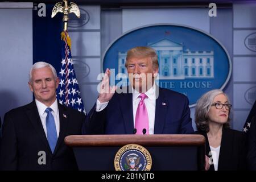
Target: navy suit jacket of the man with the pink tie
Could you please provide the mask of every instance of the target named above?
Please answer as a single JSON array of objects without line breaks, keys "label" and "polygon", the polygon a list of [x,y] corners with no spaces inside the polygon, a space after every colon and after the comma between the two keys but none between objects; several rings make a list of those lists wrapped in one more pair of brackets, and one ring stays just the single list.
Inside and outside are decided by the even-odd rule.
[{"label": "navy suit jacket of the man with the pink tie", "polygon": [[[188,98],[183,94],[159,88],[154,134],[193,133],[188,105]],[[85,134],[133,134],[133,121],[133,94],[115,93],[104,110],[96,112],[94,105],[83,131]]]}]

